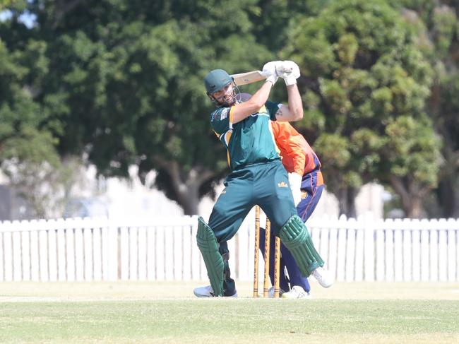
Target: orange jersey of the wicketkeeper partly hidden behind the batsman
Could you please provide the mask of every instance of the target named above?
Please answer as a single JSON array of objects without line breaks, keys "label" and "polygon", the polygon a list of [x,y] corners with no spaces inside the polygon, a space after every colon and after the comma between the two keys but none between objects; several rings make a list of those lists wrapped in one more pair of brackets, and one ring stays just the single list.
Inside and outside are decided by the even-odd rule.
[{"label": "orange jersey of the wicketkeeper partly hidden behind the batsman", "polygon": [[287,172],[304,175],[321,167],[316,153],[302,134],[287,121],[271,121],[275,143],[280,149],[282,165]]}]

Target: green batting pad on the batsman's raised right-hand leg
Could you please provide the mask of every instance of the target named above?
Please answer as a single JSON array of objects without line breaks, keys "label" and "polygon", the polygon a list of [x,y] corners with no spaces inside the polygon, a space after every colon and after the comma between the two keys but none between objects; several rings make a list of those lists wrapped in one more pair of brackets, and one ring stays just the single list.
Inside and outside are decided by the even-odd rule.
[{"label": "green batting pad on the batsman's raised right-hand leg", "polygon": [[319,266],[323,259],[316,251],[308,229],[298,215],[293,215],[280,229],[279,237],[297,261],[299,271],[309,276]]}]

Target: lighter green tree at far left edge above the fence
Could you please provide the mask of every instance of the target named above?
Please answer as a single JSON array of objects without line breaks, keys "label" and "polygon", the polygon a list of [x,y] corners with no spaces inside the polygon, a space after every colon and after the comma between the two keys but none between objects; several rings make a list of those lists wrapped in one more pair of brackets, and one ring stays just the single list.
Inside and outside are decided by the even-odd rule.
[{"label": "lighter green tree at far left edge above the fence", "polygon": [[47,114],[33,99],[32,80],[47,71],[43,48],[30,40],[10,52],[0,40],[0,167],[38,218],[49,214],[49,187],[60,165]]}]

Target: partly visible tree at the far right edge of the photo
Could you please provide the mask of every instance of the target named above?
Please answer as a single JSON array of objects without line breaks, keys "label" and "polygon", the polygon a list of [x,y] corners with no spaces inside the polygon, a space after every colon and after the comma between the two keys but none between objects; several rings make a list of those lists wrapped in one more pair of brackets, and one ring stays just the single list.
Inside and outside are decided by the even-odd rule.
[{"label": "partly visible tree at the far right edge of the photo", "polygon": [[421,51],[434,70],[427,113],[442,138],[442,167],[436,196],[441,208],[433,216],[459,216],[459,30],[458,1],[394,1],[419,28]]}]

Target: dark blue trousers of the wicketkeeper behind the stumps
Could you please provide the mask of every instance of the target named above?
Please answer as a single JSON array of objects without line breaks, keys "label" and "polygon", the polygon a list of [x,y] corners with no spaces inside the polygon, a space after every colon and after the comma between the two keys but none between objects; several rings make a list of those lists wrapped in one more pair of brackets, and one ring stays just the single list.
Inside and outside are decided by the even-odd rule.
[{"label": "dark blue trousers of the wicketkeeper behind the stumps", "polygon": [[[297,212],[298,215],[302,218],[304,222],[309,219],[314,209],[317,206],[318,200],[322,196],[323,184],[316,186],[317,184],[317,171],[305,174],[302,179],[302,191],[306,192],[306,195],[302,197],[302,201],[298,203]],[[270,240],[270,271],[269,276],[271,284],[274,285],[274,235],[271,232]],[[265,247],[265,230],[260,229],[260,249],[261,254],[264,256],[264,247]],[[285,275],[285,270],[287,270],[287,275]],[[290,286],[289,286],[290,283]],[[285,292],[289,291],[294,285],[299,285],[306,292],[311,290],[311,285],[309,285],[308,279],[302,275],[299,271],[296,261],[294,260],[292,254],[284,246],[280,244],[280,288]]]}]

